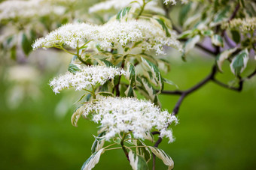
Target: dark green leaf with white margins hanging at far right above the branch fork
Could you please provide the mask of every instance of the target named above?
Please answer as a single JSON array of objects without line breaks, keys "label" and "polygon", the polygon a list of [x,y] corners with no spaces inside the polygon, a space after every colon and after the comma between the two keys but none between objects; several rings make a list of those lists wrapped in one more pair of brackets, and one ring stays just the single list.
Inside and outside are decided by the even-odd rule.
[{"label": "dark green leaf with white margins hanging at far right above the branch fork", "polygon": [[245,70],[248,59],[248,49],[242,50],[242,52],[239,52],[239,54],[233,58],[230,69],[235,76],[239,76],[240,73]]}]

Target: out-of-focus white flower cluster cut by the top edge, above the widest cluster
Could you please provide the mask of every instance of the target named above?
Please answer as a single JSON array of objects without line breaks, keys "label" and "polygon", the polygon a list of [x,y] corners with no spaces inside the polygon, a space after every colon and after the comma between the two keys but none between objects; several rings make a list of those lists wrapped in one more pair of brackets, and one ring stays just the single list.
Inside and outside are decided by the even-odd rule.
[{"label": "out-of-focus white flower cluster cut by the top edge, above the widest cluster", "polygon": [[[133,2],[133,3],[131,3]],[[142,4],[142,0],[139,0],[140,4]],[[140,7],[140,4],[134,2],[133,0],[108,0],[108,1],[102,1],[98,4],[94,4],[92,7],[89,8],[89,13],[97,13],[102,10],[121,10],[124,7],[130,6],[130,7]],[[165,14],[165,11],[157,6],[157,1],[150,1],[145,6],[145,10],[150,10],[155,13],[161,13]]]}]

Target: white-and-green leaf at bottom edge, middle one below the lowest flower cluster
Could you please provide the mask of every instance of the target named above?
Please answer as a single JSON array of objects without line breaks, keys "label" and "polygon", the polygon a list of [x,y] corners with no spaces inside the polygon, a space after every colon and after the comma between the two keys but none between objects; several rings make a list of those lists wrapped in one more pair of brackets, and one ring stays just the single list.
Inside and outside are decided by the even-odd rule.
[{"label": "white-and-green leaf at bottom edge, middle one below the lowest flower cluster", "polygon": [[148,164],[143,157],[134,154],[133,151],[129,152],[128,157],[133,170],[148,170]]}]

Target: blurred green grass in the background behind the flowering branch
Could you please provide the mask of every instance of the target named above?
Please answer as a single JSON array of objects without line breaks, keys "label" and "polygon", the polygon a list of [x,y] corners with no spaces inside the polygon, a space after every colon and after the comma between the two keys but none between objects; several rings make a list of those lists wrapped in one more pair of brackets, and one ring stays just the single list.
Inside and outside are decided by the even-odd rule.
[{"label": "blurred green grass in the background behind the flowering branch", "polygon": [[[171,59],[171,63],[172,71],[167,76],[185,89],[211,71],[212,59],[192,57],[186,63]],[[224,65],[224,71],[218,77],[231,79],[228,64]],[[164,140],[160,144],[175,161],[176,170],[256,167],[255,81],[254,78],[246,82],[241,93],[209,82],[184,100],[178,113],[180,123],[173,127],[175,142],[168,144]],[[8,109],[5,102],[8,84],[1,78],[1,169],[80,169],[90,157],[96,125],[81,119],[78,127],[73,127],[70,118],[75,106],[64,118],[56,117],[53,112],[64,94],[53,94],[47,84],[45,79],[40,87],[44,96],[38,102],[26,100],[18,109]],[[171,112],[178,97],[161,95],[160,100],[163,109]],[[108,151],[95,169],[130,169],[130,166],[122,151]],[[157,169],[167,167],[157,160]]]}]

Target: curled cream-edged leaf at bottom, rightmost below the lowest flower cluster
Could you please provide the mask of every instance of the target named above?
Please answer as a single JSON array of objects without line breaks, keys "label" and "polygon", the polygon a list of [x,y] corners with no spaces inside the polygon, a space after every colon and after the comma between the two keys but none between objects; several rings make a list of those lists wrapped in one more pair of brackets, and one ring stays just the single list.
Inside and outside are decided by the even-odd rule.
[{"label": "curled cream-edged leaf at bottom, rightmost below the lowest flower cluster", "polygon": [[152,153],[157,156],[160,160],[163,161],[163,163],[168,166],[168,170],[173,169],[174,163],[171,157],[167,155],[163,150],[156,147],[148,146],[148,148],[151,149]]}]

